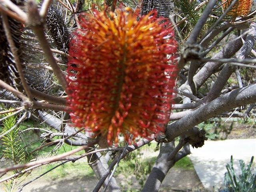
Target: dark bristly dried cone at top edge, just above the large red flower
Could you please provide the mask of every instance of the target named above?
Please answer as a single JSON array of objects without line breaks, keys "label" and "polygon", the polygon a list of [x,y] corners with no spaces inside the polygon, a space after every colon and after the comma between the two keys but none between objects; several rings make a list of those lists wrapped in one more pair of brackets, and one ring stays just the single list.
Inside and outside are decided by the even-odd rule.
[{"label": "dark bristly dried cone at top edge, just above the large red flower", "polygon": [[158,16],[168,18],[174,11],[173,0],[143,0],[142,4],[142,14],[148,14],[148,12],[156,9]]}]

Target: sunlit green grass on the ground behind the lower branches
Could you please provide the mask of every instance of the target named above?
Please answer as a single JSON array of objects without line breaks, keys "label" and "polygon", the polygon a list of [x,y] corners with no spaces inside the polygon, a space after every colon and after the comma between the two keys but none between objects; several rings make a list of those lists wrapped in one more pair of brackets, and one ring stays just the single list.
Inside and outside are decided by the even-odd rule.
[{"label": "sunlit green grass on the ground behind the lower branches", "polygon": [[[50,129],[46,124],[39,124],[38,122],[34,122],[32,120],[26,120],[22,122],[20,125],[20,131],[26,130],[27,128],[43,128],[46,130],[52,130]],[[0,128],[1,129],[1,128]],[[52,130],[53,131],[53,130]],[[35,131],[35,130],[28,130],[26,132],[23,132],[20,134],[22,138],[22,147],[26,149],[26,151],[32,151],[36,148],[38,148],[44,140],[42,140],[39,136],[42,134],[43,131]],[[57,137],[56,137],[57,138]],[[45,144],[45,142],[43,143]],[[46,155],[52,155],[51,152],[56,146],[46,147],[40,150],[39,154],[42,154],[42,156],[46,157]],[[62,154],[64,152],[70,151],[74,148],[77,148],[75,146],[70,146],[67,144],[63,144],[60,146],[57,150],[53,152],[53,154]],[[2,148],[0,146],[0,150],[2,151]],[[118,174],[122,174],[124,176],[134,175],[136,179],[139,181],[140,185],[143,186],[144,182],[146,181],[146,178],[150,171],[152,170],[152,167],[154,165],[154,162],[156,160],[156,156],[151,158],[142,158],[142,150],[148,150],[149,152],[155,152],[159,150],[159,148],[156,148],[156,143],[152,142],[146,146],[143,146],[142,148],[131,152],[120,161],[120,164],[115,172],[115,176]],[[78,154],[82,154],[84,151],[80,151]],[[85,157],[86,158],[86,157]],[[62,166],[59,166],[58,168],[55,168],[50,173],[43,176],[46,180],[58,180],[66,178],[67,175],[71,175],[74,178],[82,178],[82,177],[92,177],[94,176],[93,170],[90,168],[90,166],[86,163],[87,159],[80,160],[77,162],[68,162]],[[32,171],[32,174],[26,178],[26,180],[30,180],[32,178],[35,178],[36,176],[43,174],[44,172],[47,172],[51,168],[57,166],[58,163],[48,164],[45,166],[41,166],[40,168],[36,168]],[[192,163],[189,160],[188,157],[182,158],[182,160],[176,162],[174,165],[174,168],[183,168],[183,169],[193,169]],[[128,184],[128,186],[132,186],[131,184]],[[123,188],[126,188],[126,186],[123,186]],[[133,189],[125,189],[128,191],[134,191]]]}]

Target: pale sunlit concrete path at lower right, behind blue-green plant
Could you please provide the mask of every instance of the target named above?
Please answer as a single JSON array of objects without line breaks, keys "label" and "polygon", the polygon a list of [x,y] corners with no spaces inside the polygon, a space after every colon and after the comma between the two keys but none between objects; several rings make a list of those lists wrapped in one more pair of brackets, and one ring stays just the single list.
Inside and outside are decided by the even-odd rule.
[{"label": "pale sunlit concrete path at lower right, behind blue-green plant", "polygon": [[191,148],[189,155],[194,164],[204,187],[210,191],[215,191],[223,185],[226,164],[230,162],[233,155],[234,169],[240,174],[239,160],[244,160],[248,164],[254,156],[254,172],[256,172],[256,138],[236,139],[223,141],[206,141],[202,148]]}]

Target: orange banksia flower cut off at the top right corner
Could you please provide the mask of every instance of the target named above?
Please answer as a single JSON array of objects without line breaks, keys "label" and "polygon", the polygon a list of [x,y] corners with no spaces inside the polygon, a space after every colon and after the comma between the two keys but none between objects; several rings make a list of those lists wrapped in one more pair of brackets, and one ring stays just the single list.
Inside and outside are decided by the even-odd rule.
[{"label": "orange banksia flower cut off at the top right corner", "polygon": [[[233,0],[222,0],[224,9],[232,3]],[[230,9],[227,15],[231,15],[234,18],[237,16],[245,16],[250,12],[252,6],[252,0],[238,0],[234,6]]]}]

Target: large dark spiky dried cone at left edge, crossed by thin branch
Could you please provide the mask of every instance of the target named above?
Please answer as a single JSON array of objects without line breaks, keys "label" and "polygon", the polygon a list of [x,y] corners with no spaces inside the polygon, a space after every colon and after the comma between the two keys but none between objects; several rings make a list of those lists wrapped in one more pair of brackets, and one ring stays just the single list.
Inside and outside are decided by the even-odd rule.
[{"label": "large dark spiky dried cone at left edge, crossed by thin branch", "polygon": [[[13,0],[14,4],[24,5],[24,1]],[[40,67],[45,64],[43,54],[40,53],[40,48],[37,40],[34,38],[34,33],[30,28],[22,25],[20,22],[8,17],[12,39],[18,51],[20,62],[24,67],[24,75],[27,84],[38,91],[50,93],[55,86],[52,86],[52,72]],[[67,51],[67,48],[66,48]],[[38,78],[40,76],[40,78]],[[0,17],[0,79],[6,83],[22,90],[20,85],[19,74],[16,69],[16,64],[6,34],[4,32],[2,18]],[[12,94],[2,91],[1,98],[6,98]],[[10,97],[10,99],[13,99]]]}]

